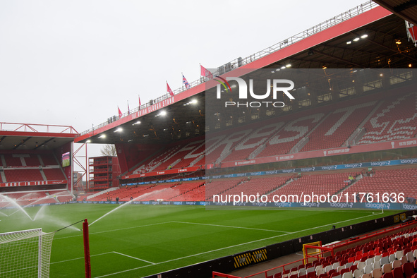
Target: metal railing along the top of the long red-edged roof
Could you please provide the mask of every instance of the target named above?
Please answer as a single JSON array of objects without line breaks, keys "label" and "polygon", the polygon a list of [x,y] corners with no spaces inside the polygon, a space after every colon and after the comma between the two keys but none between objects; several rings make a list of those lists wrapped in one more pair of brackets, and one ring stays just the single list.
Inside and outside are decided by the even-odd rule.
[{"label": "metal railing along the top of the long red-edged roof", "polygon": [[[231,70],[234,70],[235,68],[239,68],[241,66],[244,66],[246,64],[250,64],[255,60],[258,60],[264,56],[267,56],[269,54],[272,54],[273,52],[277,52],[280,49],[283,49],[284,47],[288,47],[291,44],[294,44],[296,42],[299,42],[301,40],[306,39],[306,37],[310,37],[311,35],[315,35],[318,32],[322,32],[323,30],[326,30],[327,28],[331,28],[334,25],[337,25],[339,23],[344,22],[345,20],[349,20],[355,16],[360,15],[361,13],[365,13],[365,11],[370,11],[372,8],[375,8],[376,6],[378,6],[378,4],[376,4],[373,1],[367,1],[359,6],[356,6],[355,8],[351,8],[349,11],[345,11],[344,13],[339,14],[338,16],[334,16],[333,18],[330,18],[328,20],[325,20],[322,23],[319,23],[318,25],[315,25],[311,28],[308,28],[307,30],[304,30],[303,32],[299,32],[298,34],[291,36],[289,38],[287,38],[286,40],[282,40],[281,42],[278,42],[270,47],[267,47],[265,49],[262,49],[260,52],[256,52],[255,54],[252,54],[250,56],[247,56],[246,58],[241,58],[238,57],[232,61],[229,61],[229,63],[226,63],[222,66],[219,66],[217,68],[216,71],[214,71],[212,74],[213,75],[222,75],[226,72],[229,72]],[[209,78],[206,77],[200,77],[198,80],[194,80],[193,82],[189,83],[190,87],[195,87],[197,85],[203,84],[205,83],[207,80],[209,80]],[[186,89],[185,86],[179,87],[176,90],[173,90],[172,92],[174,92],[174,95],[177,95],[185,90],[189,90]],[[169,95],[169,93],[165,93],[164,95],[162,95],[161,97],[158,97],[157,99],[152,99],[152,104],[150,104],[150,102],[147,102],[146,104],[142,104],[140,107],[135,107],[133,110],[124,113],[121,117],[119,116],[112,116],[109,119],[122,119],[125,116],[128,116],[131,113],[135,113],[139,110],[143,110],[146,109],[147,107],[152,106],[153,104],[156,104],[158,102],[162,102],[165,99],[168,99],[169,97],[171,97]],[[113,122],[113,121],[111,121]],[[100,123],[97,126],[93,126],[92,128],[88,129],[87,131],[83,131],[82,133],[80,133],[80,135],[84,135],[86,133],[90,133],[92,131],[97,130],[98,128],[102,128],[104,126],[107,126],[109,124],[109,121],[106,121],[104,123]]]}]

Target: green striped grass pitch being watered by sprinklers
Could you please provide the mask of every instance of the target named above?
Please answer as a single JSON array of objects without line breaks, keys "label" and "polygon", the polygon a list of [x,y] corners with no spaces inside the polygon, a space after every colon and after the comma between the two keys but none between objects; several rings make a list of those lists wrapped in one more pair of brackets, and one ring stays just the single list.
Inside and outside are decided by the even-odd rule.
[{"label": "green striped grass pitch being watered by sprinklers", "polygon": [[[395,214],[358,210],[205,210],[188,205],[70,204],[0,210],[0,232],[90,222],[92,277],[143,277]],[[114,210],[99,219],[107,212]],[[8,215],[8,216],[7,216]],[[94,222],[99,219],[97,222]],[[82,224],[55,234],[51,277],[83,277]]]}]

